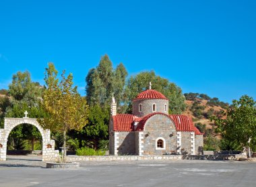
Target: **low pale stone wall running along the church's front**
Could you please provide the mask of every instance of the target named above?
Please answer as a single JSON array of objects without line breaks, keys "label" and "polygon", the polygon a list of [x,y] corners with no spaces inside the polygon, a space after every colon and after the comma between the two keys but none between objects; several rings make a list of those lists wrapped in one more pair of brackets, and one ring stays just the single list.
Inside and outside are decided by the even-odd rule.
[{"label": "low pale stone wall running along the church's front", "polygon": [[78,156],[78,155],[67,155],[67,162],[74,161],[129,161],[129,160],[182,160],[183,155],[104,155],[104,156]]}]

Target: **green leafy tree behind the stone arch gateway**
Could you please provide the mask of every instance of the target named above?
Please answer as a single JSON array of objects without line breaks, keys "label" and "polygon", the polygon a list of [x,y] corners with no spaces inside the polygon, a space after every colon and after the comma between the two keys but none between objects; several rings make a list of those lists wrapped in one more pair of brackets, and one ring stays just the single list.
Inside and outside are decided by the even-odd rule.
[{"label": "green leafy tree behind the stone arch gateway", "polygon": [[[38,82],[32,82],[30,73],[17,72],[13,75],[12,82],[9,84],[8,97],[5,97],[3,102],[0,102],[3,117],[24,117],[24,111],[28,111],[30,117],[42,117],[42,111],[38,108],[38,103],[42,99],[43,87]],[[21,135],[17,135],[22,133]],[[34,150],[34,142],[41,139],[40,132],[34,126],[20,125],[13,129],[9,135],[9,139],[14,139],[12,147],[19,147],[19,142],[29,139],[31,149]],[[28,142],[28,141],[27,141]],[[15,145],[17,144],[17,145]]]}]

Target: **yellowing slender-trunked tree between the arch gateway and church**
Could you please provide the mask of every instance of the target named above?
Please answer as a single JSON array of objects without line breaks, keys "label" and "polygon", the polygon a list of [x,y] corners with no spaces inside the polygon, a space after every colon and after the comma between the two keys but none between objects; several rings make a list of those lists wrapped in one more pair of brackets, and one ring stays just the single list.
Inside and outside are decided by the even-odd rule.
[{"label": "yellowing slender-trunked tree between the arch gateway and church", "polygon": [[44,129],[63,133],[63,162],[66,155],[66,133],[69,129],[81,130],[88,123],[88,105],[86,99],[73,87],[73,76],[65,77],[61,74],[61,81],[57,79],[57,70],[53,63],[46,68],[46,89],[40,106],[46,112],[44,119],[38,122]]}]

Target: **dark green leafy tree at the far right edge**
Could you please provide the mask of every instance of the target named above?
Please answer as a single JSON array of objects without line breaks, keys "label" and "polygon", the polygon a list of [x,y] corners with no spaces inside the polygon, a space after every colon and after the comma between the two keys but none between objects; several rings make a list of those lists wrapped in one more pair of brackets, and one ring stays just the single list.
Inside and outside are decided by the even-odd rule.
[{"label": "dark green leafy tree at the far right edge", "polygon": [[233,100],[226,111],[226,118],[212,117],[218,132],[229,142],[241,147],[253,147],[256,143],[256,102],[252,97],[243,95]]}]

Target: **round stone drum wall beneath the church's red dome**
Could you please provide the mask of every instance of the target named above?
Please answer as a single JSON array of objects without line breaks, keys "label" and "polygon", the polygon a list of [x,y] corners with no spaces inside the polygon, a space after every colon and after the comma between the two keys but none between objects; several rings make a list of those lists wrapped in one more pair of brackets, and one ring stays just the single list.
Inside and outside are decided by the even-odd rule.
[{"label": "round stone drum wall beneath the church's red dome", "polygon": [[[168,104],[169,101],[165,99],[146,99],[146,100],[135,100],[133,101],[133,115],[137,117],[143,117],[152,111],[152,105],[156,104],[156,111],[158,113],[165,113],[168,115]],[[139,111],[139,104],[141,104],[142,110]],[[164,111],[164,105],[166,105],[166,111]]]}]

